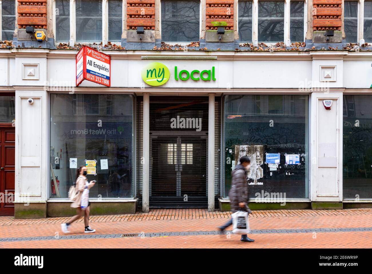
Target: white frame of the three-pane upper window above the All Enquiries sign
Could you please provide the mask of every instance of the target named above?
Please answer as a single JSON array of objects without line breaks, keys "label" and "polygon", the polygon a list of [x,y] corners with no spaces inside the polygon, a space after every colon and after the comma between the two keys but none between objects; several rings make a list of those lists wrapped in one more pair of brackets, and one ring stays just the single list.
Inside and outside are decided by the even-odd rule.
[{"label": "white frame of the three-pane upper window above the All Enquiries sign", "polygon": [[[0,0],[1,1],[1,0]],[[55,1],[53,0],[53,33],[54,37],[55,32]],[[108,10],[109,10],[109,2],[110,0],[102,0],[102,41],[96,41],[96,42],[102,42],[102,45],[107,44],[108,37],[109,37],[109,21],[108,21]],[[125,5],[126,0],[122,0],[122,33],[124,31],[124,12],[125,12]],[[69,44],[71,47],[75,45],[76,42],[76,0],[70,0],[70,41]],[[58,44],[55,40],[55,43]],[[91,44],[92,42],[80,42],[80,44]]]}]

